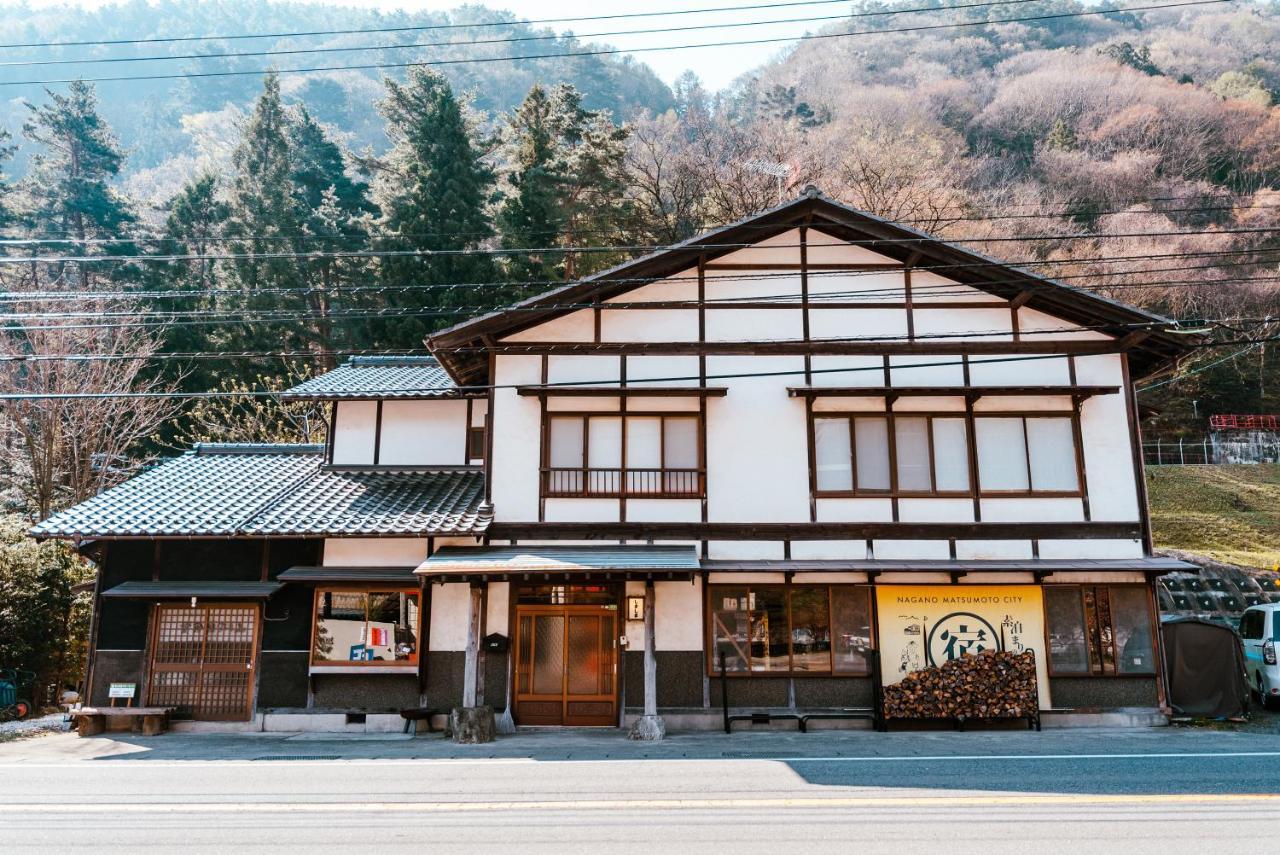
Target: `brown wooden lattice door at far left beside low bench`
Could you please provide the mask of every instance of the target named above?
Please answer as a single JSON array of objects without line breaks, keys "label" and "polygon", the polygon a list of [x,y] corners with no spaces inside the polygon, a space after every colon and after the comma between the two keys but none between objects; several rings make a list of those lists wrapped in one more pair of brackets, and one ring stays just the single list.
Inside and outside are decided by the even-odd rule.
[{"label": "brown wooden lattice door at far left beside low bench", "polygon": [[157,605],[147,704],[179,718],[241,722],[253,713],[257,605]]}]

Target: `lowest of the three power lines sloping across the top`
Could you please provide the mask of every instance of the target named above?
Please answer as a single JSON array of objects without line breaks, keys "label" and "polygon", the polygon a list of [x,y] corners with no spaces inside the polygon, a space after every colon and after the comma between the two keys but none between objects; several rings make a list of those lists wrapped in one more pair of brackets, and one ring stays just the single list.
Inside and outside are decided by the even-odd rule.
[{"label": "lowest of the three power lines sloping across the top", "polygon": [[365,63],[360,65],[315,65],[310,68],[280,68],[280,69],[253,69],[253,70],[221,70],[221,72],[187,72],[178,74],[133,74],[133,76],[111,76],[111,77],[69,77],[69,78],[56,78],[56,79],[42,79],[42,81],[4,81],[0,86],[51,86],[59,83],[115,83],[124,81],[170,81],[170,79],[200,79],[210,77],[246,77],[246,76],[261,76],[268,73],[274,74],[305,74],[315,72],[356,72],[356,70],[383,70],[392,68],[436,68],[447,65],[471,65],[476,63],[509,63],[509,61],[522,61],[531,59],[575,59],[584,56],[611,56],[617,54],[652,54],[660,51],[673,51],[673,50],[694,50],[701,47],[737,47],[737,46],[750,46],[750,45],[777,45],[777,44],[804,44],[810,41],[826,40],[826,38],[850,38],[854,36],[879,36],[888,33],[905,33],[905,32],[925,32],[934,29],[963,29],[969,27],[989,27],[992,24],[1009,24],[1009,23],[1025,23],[1032,20],[1056,20],[1062,18],[1085,18],[1096,15],[1111,15],[1111,14],[1124,14],[1134,12],[1152,12],[1156,9],[1178,9],[1184,6],[1204,6],[1216,5],[1220,3],[1231,3],[1233,0],[1184,0],[1183,3],[1165,3],[1153,4],[1144,6],[1129,6],[1125,9],[1097,9],[1091,12],[1064,12],[1048,15],[1030,15],[1025,18],[996,18],[989,20],[968,20],[956,22],[947,24],[920,24],[916,27],[896,27],[884,29],[861,29],[845,33],[806,33],[797,37],[777,36],[772,38],[740,38],[731,41],[717,41],[717,42],[700,42],[700,44],[686,44],[686,45],[664,45],[653,47],[599,47],[584,51],[570,51],[570,52],[549,52],[549,54],[527,54],[522,56],[471,56],[471,58],[457,58],[457,59],[438,59],[438,60],[420,60],[411,63]]}]

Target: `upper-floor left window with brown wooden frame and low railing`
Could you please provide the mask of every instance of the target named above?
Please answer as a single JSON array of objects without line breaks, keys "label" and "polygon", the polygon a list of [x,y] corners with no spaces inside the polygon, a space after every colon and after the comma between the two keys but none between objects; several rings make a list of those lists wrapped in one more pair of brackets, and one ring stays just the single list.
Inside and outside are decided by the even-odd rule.
[{"label": "upper-floor left window with brown wooden frame and low railing", "polygon": [[[552,422],[557,419],[577,419],[582,422],[582,466],[556,466],[550,465],[550,444],[552,444]],[[605,466],[605,467],[593,467],[588,466],[590,461],[590,445],[591,445],[591,419],[618,419],[622,425],[621,434],[621,448],[620,448],[620,463],[621,466]],[[628,468],[627,467],[627,420],[636,419],[658,419],[658,439],[659,439],[659,458],[663,466],[657,468]],[[667,420],[668,419],[687,419],[691,420],[696,429],[696,442],[695,448],[698,452],[698,466],[694,468],[668,468],[666,466],[667,458]],[[614,410],[590,410],[590,411],[562,411],[552,410],[547,411],[543,419],[543,453],[541,465],[539,468],[538,490],[539,497],[543,499],[704,499],[707,498],[707,459],[705,449],[701,438],[704,435],[705,422],[703,420],[701,412],[696,410],[663,410],[663,411],[614,411]],[[552,475],[556,471],[573,471],[580,472],[582,476],[582,486],[577,490],[553,490],[552,489]],[[616,490],[590,490],[590,472],[617,472],[618,489]],[[644,491],[634,490],[630,485],[630,479],[627,477],[632,472],[657,472],[658,477],[662,479],[663,486],[666,488],[668,475],[678,474],[682,476],[692,476],[696,483],[696,489],[694,490],[655,490]]]}]

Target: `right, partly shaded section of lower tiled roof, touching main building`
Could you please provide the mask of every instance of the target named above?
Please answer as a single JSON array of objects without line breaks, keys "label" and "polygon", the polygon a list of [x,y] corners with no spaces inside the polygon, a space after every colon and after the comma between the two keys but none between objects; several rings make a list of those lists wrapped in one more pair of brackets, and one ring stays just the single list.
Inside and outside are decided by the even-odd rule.
[{"label": "right, partly shaded section of lower tiled roof, touching main building", "polygon": [[475,534],[483,516],[479,470],[323,470],[244,526],[253,535]]}]

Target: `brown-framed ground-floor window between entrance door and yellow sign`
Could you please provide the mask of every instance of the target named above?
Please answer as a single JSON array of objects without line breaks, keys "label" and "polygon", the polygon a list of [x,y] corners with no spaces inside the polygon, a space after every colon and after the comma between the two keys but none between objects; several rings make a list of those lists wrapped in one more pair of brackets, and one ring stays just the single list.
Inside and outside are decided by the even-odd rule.
[{"label": "brown-framed ground-floor window between entrance door and yellow sign", "polygon": [[714,585],[712,673],[867,675],[865,586]]}]

